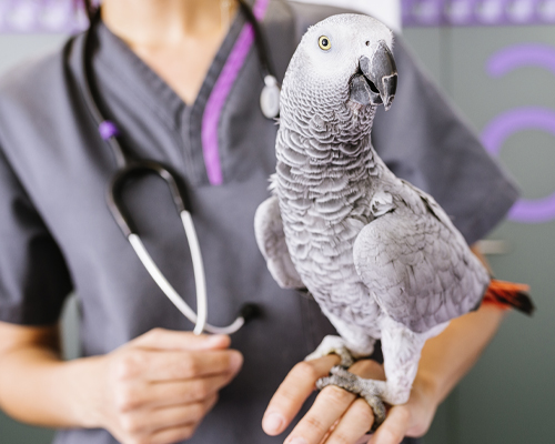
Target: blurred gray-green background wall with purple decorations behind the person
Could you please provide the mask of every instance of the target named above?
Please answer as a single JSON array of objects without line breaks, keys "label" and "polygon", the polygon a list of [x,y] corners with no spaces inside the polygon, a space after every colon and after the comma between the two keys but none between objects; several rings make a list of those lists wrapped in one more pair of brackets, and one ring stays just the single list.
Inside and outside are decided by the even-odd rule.
[{"label": "blurred gray-green background wall with purple decorations behind the person", "polygon": [[[555,0],[306,1],[402,24],[421,64],[522,188],[523,199],[483,246],[497,278],[532,285],[537,313],[508,315],[440,407],[426,444],[555,443]],[[0,72],[59,48],[84,26],[69,0],[0,0]],[[67,313],[65,354],[74,357],[74,300]],[[51,436],[0,413],[0,444]]]}]

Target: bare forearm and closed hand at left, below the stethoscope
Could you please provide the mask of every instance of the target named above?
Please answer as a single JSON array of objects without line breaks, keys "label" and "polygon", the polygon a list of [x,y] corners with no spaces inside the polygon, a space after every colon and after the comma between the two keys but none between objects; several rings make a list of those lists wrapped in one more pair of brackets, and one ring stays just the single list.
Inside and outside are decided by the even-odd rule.
[{"label": "bare forearm and closed hand at left, below the stethoscope", "polygon": [[191,437],[242,364],[229,336],[162,329],[62,362],[56,332],[0,322],[0,406],[32,424],[107,428],[123,444]]}]

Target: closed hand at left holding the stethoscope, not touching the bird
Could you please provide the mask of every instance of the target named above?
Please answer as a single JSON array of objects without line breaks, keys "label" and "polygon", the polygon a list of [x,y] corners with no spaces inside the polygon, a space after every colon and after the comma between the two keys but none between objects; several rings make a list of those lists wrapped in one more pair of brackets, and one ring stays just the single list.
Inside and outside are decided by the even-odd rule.
[{"label": "closed hand at left holding the stethoscope, not touching the bird", "polygon": [[95,426],[123,444],[190,438],[243,357],[224,335],[154,329],[102,356]]}]

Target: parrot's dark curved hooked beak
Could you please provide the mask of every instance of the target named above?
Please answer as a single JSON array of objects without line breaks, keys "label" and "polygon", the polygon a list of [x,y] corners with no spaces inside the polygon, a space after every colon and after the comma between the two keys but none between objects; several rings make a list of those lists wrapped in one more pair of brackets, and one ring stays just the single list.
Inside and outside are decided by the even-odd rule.
[{"label": "parrot's dark curved hooked beak", "polygon": [[381,40],[372,60],[359,59],[359,71],[351,80],[351,100],[362,105],[384,104],[391,108],[397,89],[397,68],[387,44]]}]

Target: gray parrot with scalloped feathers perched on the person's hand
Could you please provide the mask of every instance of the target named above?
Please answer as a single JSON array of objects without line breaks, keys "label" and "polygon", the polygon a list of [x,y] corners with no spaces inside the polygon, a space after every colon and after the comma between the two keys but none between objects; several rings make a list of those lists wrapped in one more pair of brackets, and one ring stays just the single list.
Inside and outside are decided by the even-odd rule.
[{"label": "gray parrot with scalloped feathers perched on the person's hand", "polygon": [[[376,426],[384,402],[408,400],[425,341],[476,309],[491,281],[435,200],[372,148],[375,111],[395,97],[392,47],[392,32],[366,16],[309,29],[283,81],[273,195],[254,221],[276,282],[306,287],[341,335],[307,357],[342,356],[319,386],[363,396]],[[376,340],[386,381],[349,373]]]}]

